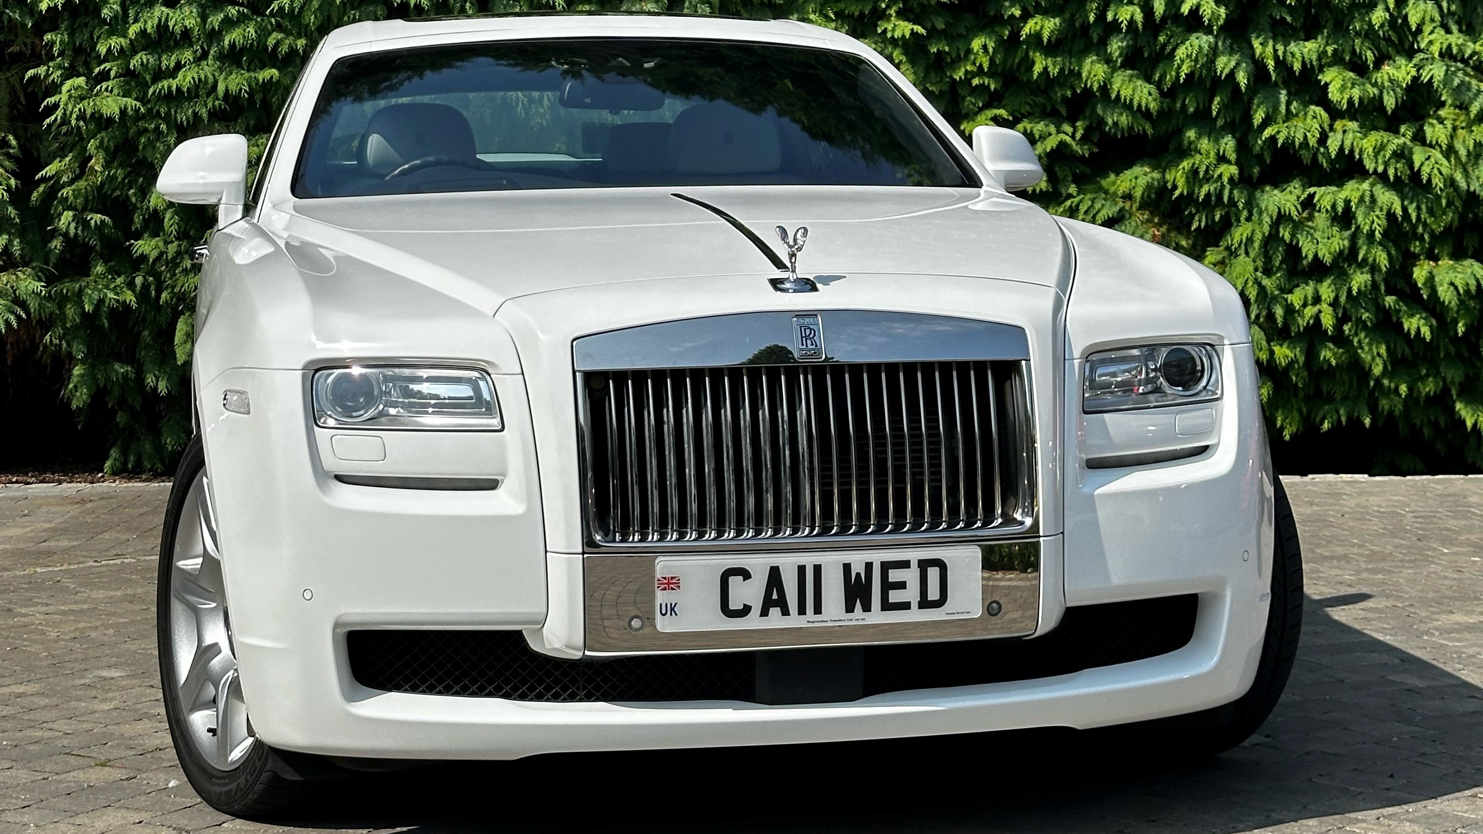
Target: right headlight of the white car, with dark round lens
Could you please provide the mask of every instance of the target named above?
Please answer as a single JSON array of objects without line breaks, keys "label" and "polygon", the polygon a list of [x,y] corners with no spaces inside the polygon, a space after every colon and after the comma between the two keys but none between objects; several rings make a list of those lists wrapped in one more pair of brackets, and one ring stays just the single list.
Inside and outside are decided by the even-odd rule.
[{"label": "right headlight of the white car, with dark round lens", "polygon": [[1221,399],[1221,356],[1209,344],[1155,344],[1087,358],[1083,411],[1126,411]]}]

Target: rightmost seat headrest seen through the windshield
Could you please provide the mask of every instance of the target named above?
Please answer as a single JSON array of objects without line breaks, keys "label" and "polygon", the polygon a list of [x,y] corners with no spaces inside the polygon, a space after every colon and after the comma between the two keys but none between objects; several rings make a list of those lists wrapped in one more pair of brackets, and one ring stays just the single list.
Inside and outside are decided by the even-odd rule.
[{"label": "rightmost seat headrest seen through the windshield", "polygon": [[669,156],[678,174],[771,174],[783,162],[773,117],[727,102],[681,111]]}]

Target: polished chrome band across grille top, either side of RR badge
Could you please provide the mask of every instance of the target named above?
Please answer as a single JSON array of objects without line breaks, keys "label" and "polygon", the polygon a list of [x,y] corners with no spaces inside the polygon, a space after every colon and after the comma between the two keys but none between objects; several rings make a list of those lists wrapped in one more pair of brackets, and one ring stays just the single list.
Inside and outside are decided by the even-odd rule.
[{"label": "polished chrome band across grille top, either side of RR badge", "polygon": [[[887,310],[817,313],[828,319],[829,362],[1029,359],[1029,337],[1014,325]],[[793,315],[733,313],[598,332],[572,341],[572,364],[577,371],[792,364]]]}]

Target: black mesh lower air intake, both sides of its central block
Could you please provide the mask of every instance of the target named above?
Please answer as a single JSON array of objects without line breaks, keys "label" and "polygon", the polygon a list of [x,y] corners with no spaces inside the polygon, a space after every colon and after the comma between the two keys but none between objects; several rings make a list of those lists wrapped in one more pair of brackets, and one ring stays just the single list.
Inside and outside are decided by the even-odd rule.
[{"label": "black mesh lower air intake, both sides of its central block", "polygon": [[[865,647],[865,695],[1065,675],[1189,643],[1197,598],[1077,605],[1035,640]],[[518,631],[351,631],[350,671],[383,692],[544,702],[753,700],[756,653],[561,660]]]}]

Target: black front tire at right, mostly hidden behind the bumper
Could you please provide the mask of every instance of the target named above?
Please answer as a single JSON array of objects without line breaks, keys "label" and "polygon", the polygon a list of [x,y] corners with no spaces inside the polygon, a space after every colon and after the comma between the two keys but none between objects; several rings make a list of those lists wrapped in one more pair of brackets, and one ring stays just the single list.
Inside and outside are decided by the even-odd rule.
[{"label": "black front tire at right, mostly hidden behind the bumper", "polygon": [[1262,657],[1256,666],[1252,689],[1237,700],[1189,715],[1160,718],[1139,724],[1117,727],[1120,739],[1129,732],[1145,743],[1145,749],[1183,760],[1209,758],[1225,752],[1246,739],[1272,714],[1277,699],[1287,687],[1287,678],[1298,656],[1298,638],[1302,632],[1302,549],[1298,543],[1298,524],[1293,521],[1287,490],[1277,476],[1274,487],[1274,534],[1272,534],[1272,600],[1266,613],[1266,637],[1262,640]]}]

